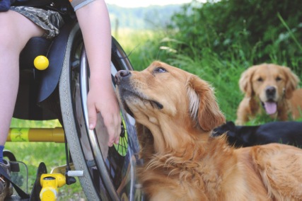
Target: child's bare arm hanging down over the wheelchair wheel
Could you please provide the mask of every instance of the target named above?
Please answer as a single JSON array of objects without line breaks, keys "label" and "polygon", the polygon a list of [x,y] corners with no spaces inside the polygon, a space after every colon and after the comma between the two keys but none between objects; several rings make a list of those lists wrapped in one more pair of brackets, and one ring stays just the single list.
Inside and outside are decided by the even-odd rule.
[{"label": "child's bare arm hanging down over the wheelchair wheel", "polygon": [[88,116],[90,129],[101,113],[109,134],[108,146],[118,143],[121,132],[120,108],[111,80],[111,30],[108,9],[103,0],[95,0],[76,10],[90,66]]}]

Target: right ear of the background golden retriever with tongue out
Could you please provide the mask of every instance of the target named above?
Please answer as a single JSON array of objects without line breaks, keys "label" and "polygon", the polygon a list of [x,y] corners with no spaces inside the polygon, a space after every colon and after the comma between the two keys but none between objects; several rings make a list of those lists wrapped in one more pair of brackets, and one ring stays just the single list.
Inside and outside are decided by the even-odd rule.
[{"label": "right ear of the background golden retriever with tongue out", "polygon": [[291,69],[288,67],[282,67],[284,71],[284,75],[286,77],[286,83],[285,83],[285,98],[289,99],[293,96],[293,92],[296,90],[298,86],[298,82],[300,81],[298,79],[298,76],[294,74]]}]

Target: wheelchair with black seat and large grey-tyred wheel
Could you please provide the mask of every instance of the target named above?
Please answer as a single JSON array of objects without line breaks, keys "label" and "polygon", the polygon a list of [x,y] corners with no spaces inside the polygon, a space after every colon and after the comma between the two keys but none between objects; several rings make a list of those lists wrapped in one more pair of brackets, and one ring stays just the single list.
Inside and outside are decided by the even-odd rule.
[{"label": "wheelchair with black seat and large grey-tyred wheel", "polygon": [[[121,110],[122,133],[119,144],[113,147],[107,146],[101,115],[98,115],[95,130],[88,129],[88,60],[81,30],[69,2],[47,0],[45,6],[45,2],[37,5],[42,4],[41,1],[17,0],[15,5],[33,6],[30,2],[34,2],[34,6],[60,11],[67,22],[54,40],[32,38],[21,52],[19,91],[13,117],[59,120],[62,129],[52,130],[50,135],[65,143],[66,165],[54,168],[51,173],[63,175],[66,184],[74,183],[74,176],[79,176],[87,200],[144,200],[135,175],[135,167],[140,161],[134,119]],[[38,55],[45,55],[50,63],[43,71],[33,66]],[[112,85],[115,86],[113,78],[117,71],[132,70],[127,54],[115,38],[112,38],[111,60]],[[39,133],[37,129],[31,140],[46,142],[47,136],[49,132],[41,129]],[[13,139],[13,128],[8,139]],[[40,200],[45,174],[46,166],[40,163],[29,200]],[[47,175],[47,179],[53,178],[52,174]]]}]

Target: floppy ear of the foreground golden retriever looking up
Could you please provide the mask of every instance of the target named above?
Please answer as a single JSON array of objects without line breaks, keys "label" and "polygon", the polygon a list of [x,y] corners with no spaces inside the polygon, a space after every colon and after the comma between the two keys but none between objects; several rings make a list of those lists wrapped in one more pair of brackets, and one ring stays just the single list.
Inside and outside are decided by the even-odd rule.
[{"label": "floppy ear of the foreground golden retriever looking up", "polygon": [[214,92],[206,81],[191,76],[187,81],[187,94],[192,119],[202,130],[210,131],[226,122],[216,103]]}]

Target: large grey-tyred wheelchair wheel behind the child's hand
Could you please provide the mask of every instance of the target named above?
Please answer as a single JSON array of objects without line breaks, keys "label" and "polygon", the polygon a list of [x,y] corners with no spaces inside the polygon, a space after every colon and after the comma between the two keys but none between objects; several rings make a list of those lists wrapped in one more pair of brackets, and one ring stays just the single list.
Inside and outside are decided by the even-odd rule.
[{"label": "large grey-tyred wheelchair wheel behind the child's hand", "polygon": [[[141,200],[135,166],[139,144],[134,119],[121,111],[120,143],[108,147],[108,134],[101,115],[95,130],[88,130],[86,108],[89,68],[79,25],[71,30],[59,81],[59,96],[66,139],[76,170],[88,200]],[[132,69],[126,54],[112,38],[113,76],[120,69]],[[100,86],[101,87],[101,86]]]}]

